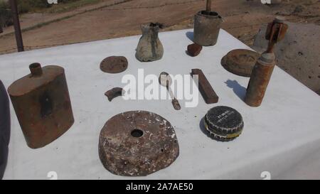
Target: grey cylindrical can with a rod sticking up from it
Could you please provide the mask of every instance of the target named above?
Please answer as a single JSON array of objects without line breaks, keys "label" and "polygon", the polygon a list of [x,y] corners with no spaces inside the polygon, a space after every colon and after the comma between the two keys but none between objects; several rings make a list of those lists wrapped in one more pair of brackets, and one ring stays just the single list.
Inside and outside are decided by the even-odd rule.
[{"label": "grey cylindrical can with a rod sticking up from it", "polygon": [[222,21],[217,12],[199,11],[194,17],[193,41],[198,45],[215,45]]}]

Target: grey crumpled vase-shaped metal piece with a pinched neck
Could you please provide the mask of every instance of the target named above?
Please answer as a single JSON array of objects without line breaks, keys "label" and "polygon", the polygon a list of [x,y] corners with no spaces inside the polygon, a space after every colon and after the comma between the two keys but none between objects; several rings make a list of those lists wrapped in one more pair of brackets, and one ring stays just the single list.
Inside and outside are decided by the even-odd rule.
[{"label": "grey crumpled vase-shaped metal piece with a pinched neck", "polygon": [[161,23],[146,23],[141,26],[142,37],[137,46],[136,58],[142,62],[160,60],[164,55],[164,47],[159,39]]}]

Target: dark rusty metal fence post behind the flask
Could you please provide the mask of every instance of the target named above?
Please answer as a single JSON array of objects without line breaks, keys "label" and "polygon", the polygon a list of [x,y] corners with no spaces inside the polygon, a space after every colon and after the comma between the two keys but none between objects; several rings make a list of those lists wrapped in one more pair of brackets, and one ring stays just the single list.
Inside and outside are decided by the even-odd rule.
[{"label": "dark rusty metal fence post behind the flask", "polygon": [[12,11],[12,16],[14,18],[14,32],[16,33],[16,45],[18,47],[18,52],[21,52],[21,51],[24,51],[24,49],[23,49],[23,41],[21,36],[21,28],[20,28],[16,0],[10,0],[10,6]]}]

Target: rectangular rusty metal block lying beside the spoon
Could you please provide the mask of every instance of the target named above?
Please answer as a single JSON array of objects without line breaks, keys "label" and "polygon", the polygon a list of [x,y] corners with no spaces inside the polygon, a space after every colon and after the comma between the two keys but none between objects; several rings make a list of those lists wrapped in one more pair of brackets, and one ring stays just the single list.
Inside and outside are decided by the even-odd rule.
[{"label": "rectangular rusty metal block lying beside the spoon", "polygon": [[215,90],[211,87],[209,81],[207,80],[207,77],[203,74],[202,70],[199,69],[192,69],[191,75],[198,75],[199,79],[199,91],[201,92],[201,95],[203,99],[206,101],[207,104],[213,104],[217,103],[219,100],[219,97],[217,94],[215,94]]}]

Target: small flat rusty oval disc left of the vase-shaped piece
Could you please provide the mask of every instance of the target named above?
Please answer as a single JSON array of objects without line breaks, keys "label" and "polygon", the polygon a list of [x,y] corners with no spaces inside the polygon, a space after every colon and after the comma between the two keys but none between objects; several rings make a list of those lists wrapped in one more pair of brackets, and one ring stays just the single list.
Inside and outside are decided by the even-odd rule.
[{"label": "small flat rusty oval disc left of the vase-shaped piece", "polygon": [[108,58],[105,58],[100,63],[100,70],[103,72],[109,72],[109,73],[119,73],[123,72],[124,70],[127,70],[128,68],[128,60],[125,57],[117,57],[117,56],[111,56]]}]

